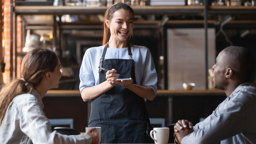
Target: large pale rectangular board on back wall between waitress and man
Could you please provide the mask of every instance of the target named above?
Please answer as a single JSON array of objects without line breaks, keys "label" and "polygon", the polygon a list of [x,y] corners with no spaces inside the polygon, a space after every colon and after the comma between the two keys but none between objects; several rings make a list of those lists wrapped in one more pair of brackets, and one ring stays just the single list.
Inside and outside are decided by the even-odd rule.
[{"label": "large pale rectangular board on back wall between waitress and man", "polygon": [[[215,29],[207,29],[208,66],[215,64]],[[168,89],[181,90],[183,83],[195,83],[194,90],[206,89],[205,31],[203,28],[167,30]]]}]

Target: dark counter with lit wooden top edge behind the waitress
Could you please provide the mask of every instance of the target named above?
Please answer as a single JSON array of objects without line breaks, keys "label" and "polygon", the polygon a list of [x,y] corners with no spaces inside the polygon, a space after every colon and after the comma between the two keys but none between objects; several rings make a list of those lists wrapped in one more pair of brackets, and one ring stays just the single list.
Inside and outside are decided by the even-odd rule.
[{"label": "dark counter with lit wooden top edge behind the waitress", "polygon": [[[153,101],[146,101],[150,118],[164,118],[165,124],[179,119],[199,122],[226,98],[221,90],[158,90]],[[90,116],[90,102],[84,102],[79,90],[49,90],[42,99],[49,119],[73,118],[73,126],[85,131]]]}]

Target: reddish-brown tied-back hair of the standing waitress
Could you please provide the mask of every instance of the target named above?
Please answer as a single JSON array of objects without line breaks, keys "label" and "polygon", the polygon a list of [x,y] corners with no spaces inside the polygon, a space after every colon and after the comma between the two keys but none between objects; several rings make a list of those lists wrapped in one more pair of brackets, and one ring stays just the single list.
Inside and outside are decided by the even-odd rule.
[{"label": "reddish-brown tied-back hair of the standing waitress", "polygon": [[[129,10],[132,14],[133,14],[133,18],[135,16],[134,14],[134,11],[133,9],[125,4],[125,3],[116,3],[116,4],[113,4],[112,6],[110,6],[106,12],[105,12],[105,16],[104,16],[104,22],[103,22],[103,29],[104,29],[104,32],[103,32],[103,40],[102,40],[102,45],[106,44],[110,38],[110,30],[108,29],[106,23],[105,23],[105,19],[111,21],[112,18],[113,18],[113,14],[117,11],[117,10],[120,10],[120,9],[124,9],[124,10]],[[129,36],[129,39],[132,38],[132,33],[131,35]],[[127,39],[127,40],[129,40]]]}]

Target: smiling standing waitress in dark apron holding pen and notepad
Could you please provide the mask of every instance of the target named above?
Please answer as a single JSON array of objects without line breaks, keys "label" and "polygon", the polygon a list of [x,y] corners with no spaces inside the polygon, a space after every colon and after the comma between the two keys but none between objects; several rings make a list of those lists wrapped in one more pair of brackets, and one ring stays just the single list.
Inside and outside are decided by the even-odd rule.
[{"label": "smiling standing waitress in dark apron holding pen and notepad", "polygon": [[134,11],[124,3],[104,17],[103,45],[86,50],[80,68],[83,101],[91,100],[89,127],[102,128],[101,143],[153,143],[145,102],[157,92],[150,50],[132,45]]}]

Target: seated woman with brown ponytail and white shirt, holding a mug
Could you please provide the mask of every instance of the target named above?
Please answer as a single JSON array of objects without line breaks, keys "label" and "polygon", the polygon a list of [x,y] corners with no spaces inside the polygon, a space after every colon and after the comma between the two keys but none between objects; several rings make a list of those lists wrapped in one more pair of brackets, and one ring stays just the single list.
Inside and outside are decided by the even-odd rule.
[{"label": "seated woman with brown ponytail and white shirt, holding a mug", "polygon": [[52,131],[43,112],[42,98],[59,87],[60,60],[49,49],[37,48],[23,58],[21,79],[14,79],[0,92],[0,143],[97,144],[95,128],[83,135]]}]

